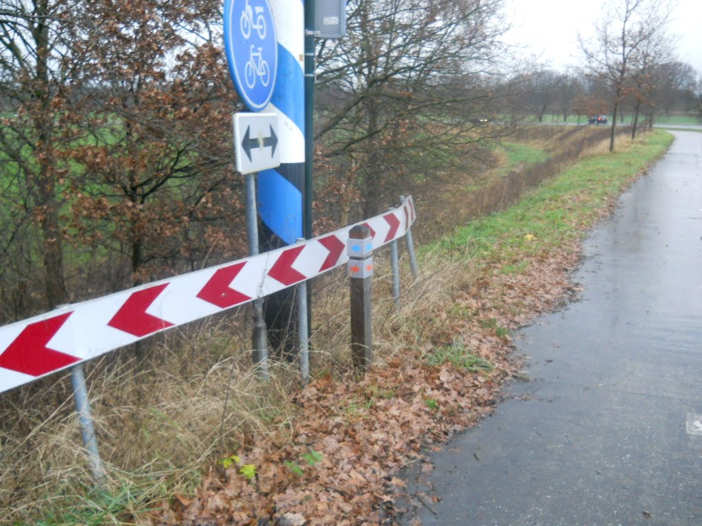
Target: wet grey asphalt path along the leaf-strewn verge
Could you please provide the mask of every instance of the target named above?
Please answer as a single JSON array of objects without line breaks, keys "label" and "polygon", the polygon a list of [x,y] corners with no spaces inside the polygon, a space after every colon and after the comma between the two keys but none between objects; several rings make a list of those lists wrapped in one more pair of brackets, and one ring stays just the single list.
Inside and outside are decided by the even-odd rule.
[{"label": "wet grey asphalt path along the leaf-strewn verge", "polygon": [[581,299],[515,335],[529,380],[407,474],[401,524],[702,525],[702,134],[674,135],[588,237]]}]

